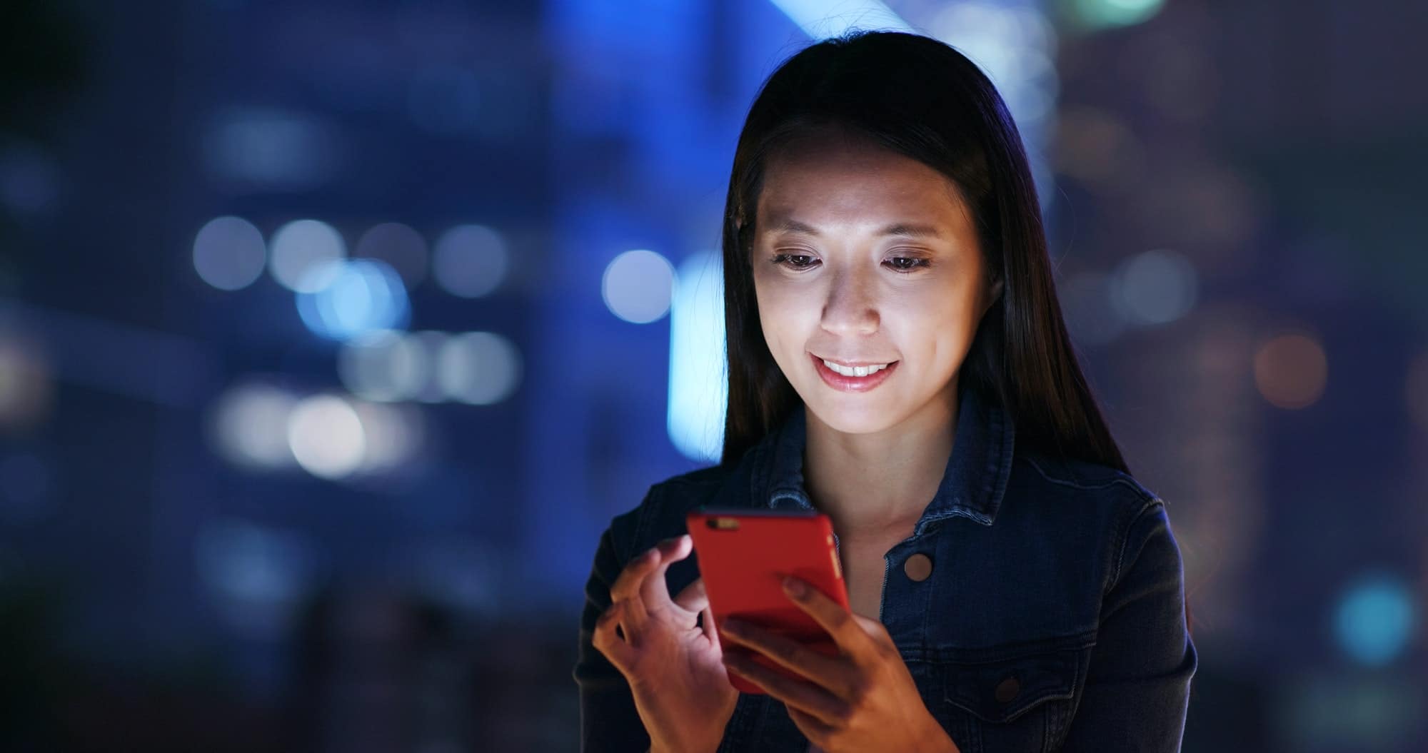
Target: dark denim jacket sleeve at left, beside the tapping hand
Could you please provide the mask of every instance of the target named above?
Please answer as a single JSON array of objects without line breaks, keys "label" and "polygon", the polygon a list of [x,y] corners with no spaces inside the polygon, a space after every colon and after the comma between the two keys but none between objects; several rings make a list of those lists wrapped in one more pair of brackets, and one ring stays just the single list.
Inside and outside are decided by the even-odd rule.
[{"label": "dark denim jacket sleeve at left, beside the tapping hand", "polygon": [[610,586],[628,559],[615,546],[610,528],[600,536],[595,562],[585,583],[585,606],[580,615],[580,649],[573,672],[580,686],[580,750],[583,753],[647,750],[650,736],[635,712],[634,696],[624,675],[591,643],[595,620],[610,608]]}]

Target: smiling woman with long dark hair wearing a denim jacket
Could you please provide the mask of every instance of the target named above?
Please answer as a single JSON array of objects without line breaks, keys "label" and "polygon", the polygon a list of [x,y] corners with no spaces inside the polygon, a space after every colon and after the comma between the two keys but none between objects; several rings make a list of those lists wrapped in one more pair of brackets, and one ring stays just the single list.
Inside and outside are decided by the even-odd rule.
[{"label": "smiling woman with long dark hair wearing a denim jacket", "polygon": [[[600,539],[581,749],[1178,750],[1197,666],[1180,549],[1077,365],[987,77],[901,33],[785,61],[740,134],[724,291],[723,462]],[[837,657],[713,630],[684,535],[700,505],[831,518],[851,610],[790,599]]]}]

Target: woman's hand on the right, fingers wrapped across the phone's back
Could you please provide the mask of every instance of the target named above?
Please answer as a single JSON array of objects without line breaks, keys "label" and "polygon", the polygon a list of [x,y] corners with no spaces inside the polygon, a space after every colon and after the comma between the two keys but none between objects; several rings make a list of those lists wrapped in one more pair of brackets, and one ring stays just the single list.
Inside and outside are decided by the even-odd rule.
[{"label": "woman's hand on the right, fingers wrapped across the phone's back", "polygon": [[[824,656],[747,622],[724,620],[720,635],[725,640],[725,666],[784,702],[794,724],[828,753],[957,753],[957,744],[922,705],[881,622],[854,615],[795,578],[784,580],[784,592],[833,636],[840,655]],[[747,653],[730,650],[731,643],[765,655],[807,682],[784,677]]]}]

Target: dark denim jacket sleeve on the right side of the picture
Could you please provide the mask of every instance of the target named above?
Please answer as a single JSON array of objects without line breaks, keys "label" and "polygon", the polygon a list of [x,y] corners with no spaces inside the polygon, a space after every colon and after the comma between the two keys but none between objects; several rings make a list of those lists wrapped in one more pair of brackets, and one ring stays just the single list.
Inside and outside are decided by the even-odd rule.
[{"label": "dark denim jacket sleeve on the right side of the picture", "polygon": [[1198,660],[1180,546],[1161,501],[1131,523],[1120,563],[1062,753],[1180,750]]}]

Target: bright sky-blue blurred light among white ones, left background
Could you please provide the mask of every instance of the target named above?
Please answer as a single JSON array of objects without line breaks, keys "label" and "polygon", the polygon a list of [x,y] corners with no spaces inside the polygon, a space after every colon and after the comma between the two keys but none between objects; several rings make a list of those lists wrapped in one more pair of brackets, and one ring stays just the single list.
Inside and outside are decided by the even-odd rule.
[{"label": "bright sky-blue blurred light among white ones, left background", "polygon": [[351,339],[400,329],[410,318],[407,288],[384,261],[333,261],[311,268],[300,285],[297,311],[313,334]]}]

